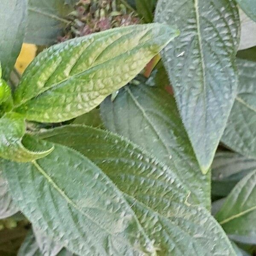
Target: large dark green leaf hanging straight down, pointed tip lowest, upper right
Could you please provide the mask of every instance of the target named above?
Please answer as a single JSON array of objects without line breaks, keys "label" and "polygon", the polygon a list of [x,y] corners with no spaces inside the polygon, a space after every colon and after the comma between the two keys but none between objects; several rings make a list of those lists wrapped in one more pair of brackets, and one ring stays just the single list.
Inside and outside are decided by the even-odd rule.
[{"label": "large dark green leaf hanging straight down, pointed tip lowest, upper right", "polygon": [[163,62],[205,174],[236,96],[238,9],[233,0],[159,0],[155,20],[180,29],[163,50]]}]

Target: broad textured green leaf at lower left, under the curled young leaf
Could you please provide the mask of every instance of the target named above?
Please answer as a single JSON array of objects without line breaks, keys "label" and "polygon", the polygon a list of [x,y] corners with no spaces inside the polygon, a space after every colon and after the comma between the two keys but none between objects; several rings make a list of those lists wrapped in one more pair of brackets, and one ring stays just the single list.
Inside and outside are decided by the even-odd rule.
[{"label": "broad textured green leaf at lower left, under the curled young leaf", "polygon": [[[39,148],[52,146],[25,139]],[[29,221],[81,256],[154,255],[152,242],[111,180],[78,152],[54,146],[32,163],[1,160],[13,199]]]}]

